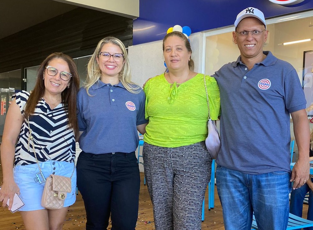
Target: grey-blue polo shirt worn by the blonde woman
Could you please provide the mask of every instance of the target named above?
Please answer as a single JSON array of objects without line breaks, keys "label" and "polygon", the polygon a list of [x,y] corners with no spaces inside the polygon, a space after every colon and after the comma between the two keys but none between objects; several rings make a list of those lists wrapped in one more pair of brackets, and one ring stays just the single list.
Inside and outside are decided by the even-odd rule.
[{"label": "grey-blue polo shirt worn by the blonde woman", "polygon": [[98,80],[77,94],[77,117],[80,148],[86,153],[130,153],[138,146],[137,125],[145,119],[145,94],[131,93],[122,83],[105,84]]}]

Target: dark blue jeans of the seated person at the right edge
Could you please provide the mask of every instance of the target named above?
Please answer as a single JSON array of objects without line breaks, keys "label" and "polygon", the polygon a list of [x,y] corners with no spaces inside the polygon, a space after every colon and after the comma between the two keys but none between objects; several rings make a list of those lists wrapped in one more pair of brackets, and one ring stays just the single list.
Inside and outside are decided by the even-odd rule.
[{"label": "dark blue jeans of the seated person at the right edge", "polygon": [[[311,179],[311,181],[313,182],[313,179]],[[295,190],[291,190],[290,213],[298,217],[302,217],[303,200],[306,193],[309,193],[309,208],[307,219],[313,221],[313,193],[307,184],[304,184]],[[304,230],[313,230],[313,227],[304,228]]]}]

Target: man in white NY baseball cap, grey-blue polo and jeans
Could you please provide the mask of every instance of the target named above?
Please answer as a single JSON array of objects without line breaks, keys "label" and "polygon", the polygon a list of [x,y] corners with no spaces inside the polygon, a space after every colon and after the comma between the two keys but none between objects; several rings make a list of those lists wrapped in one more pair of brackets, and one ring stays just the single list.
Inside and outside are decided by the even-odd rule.
[{"label": "man in white NY baseball cap, grey-blue polo and jeans", "polygon": [[[254,213],[259,229],[285,230],[290,181],[300,188],[309,177],[306,100],[295,68],[263,51],[264,14],[248,7],[234,25],[240,56],[213,75],[221,97],[216,182],[224,228],[251,229]],[[299,150],[292,173],[290,115]]]}]

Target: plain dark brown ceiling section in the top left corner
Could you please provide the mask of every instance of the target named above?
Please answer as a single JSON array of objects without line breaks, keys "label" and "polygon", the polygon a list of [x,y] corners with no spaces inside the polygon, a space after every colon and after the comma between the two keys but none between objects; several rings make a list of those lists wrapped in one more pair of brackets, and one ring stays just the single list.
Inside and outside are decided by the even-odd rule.
[{"label": "plain dark brown ceiling section in the top left corner", "polygon": [[75,8],[51,0],[0,0],[0,39]]}]

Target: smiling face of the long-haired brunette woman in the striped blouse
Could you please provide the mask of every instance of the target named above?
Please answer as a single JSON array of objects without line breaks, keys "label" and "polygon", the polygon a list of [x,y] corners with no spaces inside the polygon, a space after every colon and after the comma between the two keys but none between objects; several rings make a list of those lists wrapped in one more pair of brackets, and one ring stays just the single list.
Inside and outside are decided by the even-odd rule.
[{"label": "smiling face of the long-haired brunette woman in the striped blouse", "polygon": [[[57,69],[59,72],[65,71],[71,73],[69,70],[69,65],[66,61],[60,58],[54,58],[48,62],[47,66],[52,66]],[[45,66],[46,67],[46,66]],[[57,95],[61,96],[62,91],[70,85],[70,81],[64,81],[60,77],[60,73],[57,73],[55,76],[50,76],[47,72],[47,69],[44,71],[44,86],[45,86],[45,95]]]}]

